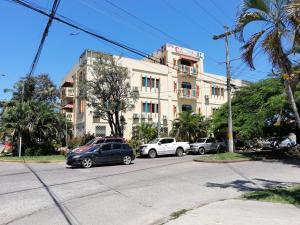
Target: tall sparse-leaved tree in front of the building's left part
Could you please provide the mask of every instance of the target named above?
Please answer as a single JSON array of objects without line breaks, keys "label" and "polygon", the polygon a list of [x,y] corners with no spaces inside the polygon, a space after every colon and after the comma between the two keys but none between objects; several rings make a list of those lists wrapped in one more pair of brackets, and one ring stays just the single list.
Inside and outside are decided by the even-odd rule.
[{"label": "tall sparse-leaved tree in front of the building's left part", "polygon": [[112,135],[123,136],[121,113],[132,110],[138,98],[128,82],[128,69],[121,66],[120,58],[101,53],[89,69],[92,77],[80,85],[81,97],[94,115],[108,122]]}]

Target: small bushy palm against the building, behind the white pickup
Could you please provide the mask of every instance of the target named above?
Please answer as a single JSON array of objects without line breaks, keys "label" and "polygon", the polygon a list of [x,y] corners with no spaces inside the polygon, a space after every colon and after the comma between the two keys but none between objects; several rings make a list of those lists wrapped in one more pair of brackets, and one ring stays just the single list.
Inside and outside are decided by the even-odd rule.
[{"label": "small bushy palm against the building, behind the white pickup", "polygon": [[179,140],[192,142],[198,137],[206,136],[208,130],[209,120],[200,114],[186,111],[173,121],[170,134]]}]

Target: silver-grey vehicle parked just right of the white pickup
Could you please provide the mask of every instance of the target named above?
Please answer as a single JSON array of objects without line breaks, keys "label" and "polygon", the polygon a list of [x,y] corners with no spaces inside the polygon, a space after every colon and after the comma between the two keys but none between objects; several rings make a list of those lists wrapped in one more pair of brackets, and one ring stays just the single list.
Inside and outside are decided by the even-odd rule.
[{"label": "silver-grey vehicle parked just right of the white pickup", "polygon": [[199,138],[195,143],[190,145],[191,148],[188,152],[199,153],[200,155],[204,155],[209,151],[218,151],[221,149],[225,149],[226,144],[224,139],[214,138],[214,137],[206,137]]}]

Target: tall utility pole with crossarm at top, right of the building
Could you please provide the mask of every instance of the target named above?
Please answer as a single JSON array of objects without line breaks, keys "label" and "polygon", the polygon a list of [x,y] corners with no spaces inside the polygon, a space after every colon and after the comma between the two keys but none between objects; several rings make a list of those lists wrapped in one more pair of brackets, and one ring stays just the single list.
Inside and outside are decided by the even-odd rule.
[{"label": "tall utility pole with crossarm at top, right of the building", "polygon": [[227,129],[227,138],[228,138],[228,151],[233,152],[233,132],[232,132],[232,110],[231,110],[231,75],[230,75],[230,62],[229,62],[229,44],[228,36],[236,33],[236,30],[229,31],[229,27],[224,26],[225,33],[220,35],[214,35],[213,39],[218,40],[225,38],[225,48],[226,48],[226,80],[227,80],[227,104],[228,104],[228,129]]}]

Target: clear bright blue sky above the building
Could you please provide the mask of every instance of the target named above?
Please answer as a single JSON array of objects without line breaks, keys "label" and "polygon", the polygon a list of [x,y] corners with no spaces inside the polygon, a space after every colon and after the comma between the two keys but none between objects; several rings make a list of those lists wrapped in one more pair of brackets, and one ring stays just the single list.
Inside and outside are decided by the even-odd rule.
[{"label": "clear bright blue sky above the building", "polygon": [[[53,0],[28,1],[48,10],[53,4]],[[226,74],[224,40],[213,40],[212,36],[224,32],[223,25],[233,27],[241,0],[109,1],[135,17],[107,0],[61,0],[57,13],[145,53],[154,52],[165,43],[203,52],[205,72]],[[5,75],[0,76],[0,99],[9,98],[10,94],[3,90],[12,88],[29,72],[47,20],[47,17],[23,6],[0,0],[0,75]],[[256,28],[249,27],[249,34]],[[250,70],[239,59],[241,45],[234,37],[230,38],[232,77],[249,81],[265,78],[271,70],[267,58],[257,51],[256,70]],[[59,85],[85,49],[141,58],[54,21],[35,74],[47,73]]]}]

